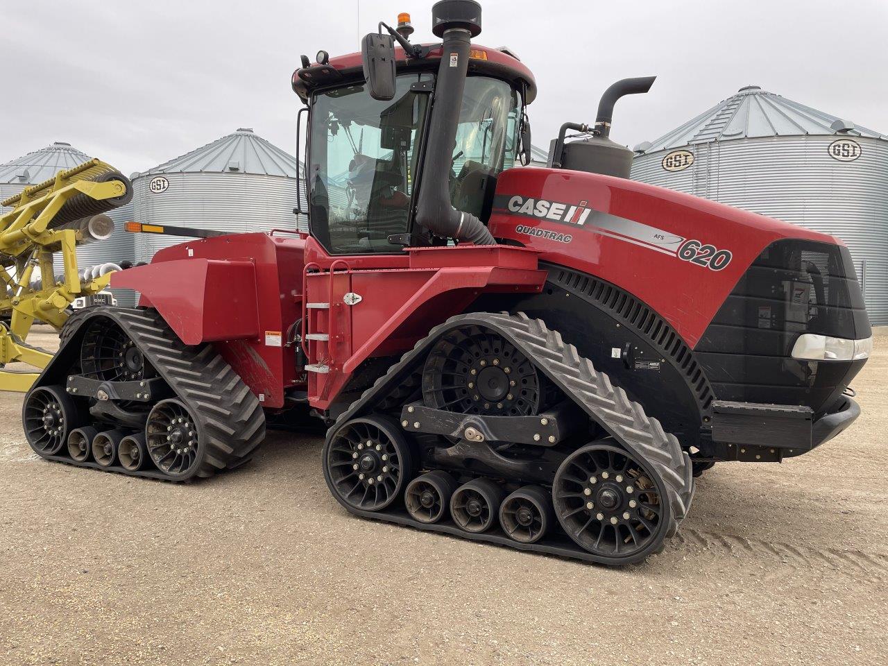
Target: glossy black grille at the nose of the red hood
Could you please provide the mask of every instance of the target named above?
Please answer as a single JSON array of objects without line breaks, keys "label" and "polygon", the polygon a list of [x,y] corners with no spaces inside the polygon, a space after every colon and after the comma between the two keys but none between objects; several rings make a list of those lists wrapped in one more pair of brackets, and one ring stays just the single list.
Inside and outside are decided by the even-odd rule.
[{"label": "glossy black grille at the nose of the red hood", "polygon": [[718,400],[829,408],[862,361],[796,361],[799,335],[871,334],[848,250],[774,242],[749,266],[695,349]]}]

